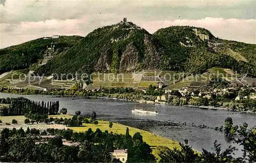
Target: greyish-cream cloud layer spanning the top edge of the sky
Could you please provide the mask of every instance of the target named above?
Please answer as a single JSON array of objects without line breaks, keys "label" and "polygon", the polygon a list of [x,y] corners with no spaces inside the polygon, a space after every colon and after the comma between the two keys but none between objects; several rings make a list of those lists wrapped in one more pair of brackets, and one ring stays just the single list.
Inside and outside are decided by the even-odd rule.
[{"label": "greyish-cream cloud layer spanning the top edge of the sky", "polygon": [[[253,18],[254,16],[255,18],[255,0],[163,0],[161,2],[155,0],[7,0],[4,6],[0,6],[2,6],[1,22],[3,23],[45,21],[49,19],[66,20],[99,13],[126,14],[126,17],[135,15],[141,18],[156,17],[158,19],[166,17],[170,19],[172,15],[182,15],[183,19],[198,19],[207,16],[224,18],[227,18],[226,16]],[[250,14],[246,14],[248,11],[250,11]],[[175,19],[177,17],[172,18],[172,20]]]}]

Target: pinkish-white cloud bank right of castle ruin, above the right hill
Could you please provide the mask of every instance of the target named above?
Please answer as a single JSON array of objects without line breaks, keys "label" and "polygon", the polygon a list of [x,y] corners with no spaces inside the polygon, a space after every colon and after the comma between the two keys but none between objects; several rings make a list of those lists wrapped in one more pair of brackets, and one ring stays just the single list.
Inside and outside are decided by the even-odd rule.
[{"label": "pinkish-white cloud bank right of castle ruin, above the right hill", "polygon": [[144,25],[145,29],[150,33],[172,25],[197,26],[209,30],[214,36],[221,39],[256,44],[256,19],[244,20],[206,17],[198,20],[143,21],[138,22],[138,25]]}]

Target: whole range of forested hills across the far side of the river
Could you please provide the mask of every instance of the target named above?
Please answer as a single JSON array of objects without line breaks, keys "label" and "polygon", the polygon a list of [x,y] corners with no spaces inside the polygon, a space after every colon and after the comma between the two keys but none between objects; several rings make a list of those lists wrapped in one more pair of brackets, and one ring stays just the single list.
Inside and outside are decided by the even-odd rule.
[{"label": "whole range of forested hills across the far side of the river", "polygon": [[[192,26],[170,26],[153,35],[132,22],[98,28],[86,37],[37,39],[0,50],[0,70],[24,69],[43,58],[53,41],[59,52],[36,73],[104,73],[141,70],[203,73],[213,67],[256,77],[256,45],[216,38]],[[3,58],[3,59],[2,59]]]}]

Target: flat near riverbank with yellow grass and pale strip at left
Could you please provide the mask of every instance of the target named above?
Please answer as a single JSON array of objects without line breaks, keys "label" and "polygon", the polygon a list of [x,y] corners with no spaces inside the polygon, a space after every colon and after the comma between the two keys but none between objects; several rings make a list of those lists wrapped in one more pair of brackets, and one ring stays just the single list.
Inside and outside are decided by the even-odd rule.
[{"label": "flat near riverbank with yellow grass and pale strip at left", "polygon": [[[72,118],[72,116],[70,115],[56,115],[56,116],[49,116],[49,118]],[[117,134],[125,134],[126,128],[129,128],[129,132],[130,134],[133,136],[136,132],[140,132],[142,137],[143,137],[143,141],[145,141],[148,145],[152,146],[153,148],[155,148],[156,146],[167,146],[168,148],[174,148],[174,147],[179,147],[179,143],[174,141],[174,140],[170,140],[164,137],[161,137],[159,135],[156,135],[154,133],[142,130],[142,129],[138,129],[138,128],[134,128],[134,127],[130,127],[130,126],[126,126],[126,125],[122,125],[119,123],[113,123],[113,127],[110,128],[109,127],[109,122],[108,121],[103,121],[103,120],[98,120],[99,124],[95,125],[95,124],[86,124],[83,123],[82,126],[80,127],[66,127],[65,125],[58,125],[58,124],[45,124],[45,123],[41,123],[41,124],[25,124],[24,120],[26,119],[25,116],[8,116],[8,117],[2,117],[0,116],[0,119],[3,121],[2,125],[0,125],[0,129],[2,130],[3,128],[20,128],[23,127],[24,130],[27,129],[27,127],[31,128],[37,128],[37,129],[47,129],[47,128],[58,128],[58,129],[72,129],[75,132],[85,132],[87,131],[89,128],[91,128],[93,131],[96,131],[97,128],[99,128],[102,131],[108,130],[109,132],[113,132],[113,133],[117,133]],[[12,120],[16,119],[18,121],[18,124],[11,124]],[[5,123],[10,123],[11,125],[6,125]]]}]

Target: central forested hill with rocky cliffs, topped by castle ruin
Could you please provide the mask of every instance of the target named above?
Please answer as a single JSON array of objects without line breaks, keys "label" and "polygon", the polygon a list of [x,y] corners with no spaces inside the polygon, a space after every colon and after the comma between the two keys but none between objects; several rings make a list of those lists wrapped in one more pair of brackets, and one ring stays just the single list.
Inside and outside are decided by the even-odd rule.
[{"label": "central forested hill with rocky cliffs, topped by castle ruin", "polygon": [[165,48],[132,22],[94,30],[69,50],[38,69],[39,73],[131,72],[161,69]]}]

